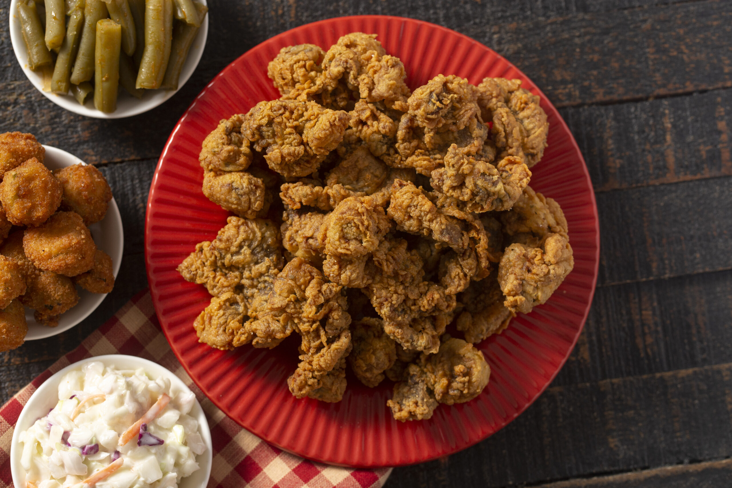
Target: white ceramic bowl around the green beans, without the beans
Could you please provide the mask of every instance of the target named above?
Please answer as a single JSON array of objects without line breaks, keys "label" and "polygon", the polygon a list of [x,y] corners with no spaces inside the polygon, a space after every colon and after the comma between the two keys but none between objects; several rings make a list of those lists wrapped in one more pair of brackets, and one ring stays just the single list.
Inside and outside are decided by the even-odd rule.
[{"label": "white ceramic bowl around the green beans, without the beans", "polygon": [[[206,0],[201,0],[201,2],[206,4]],[[206,37],[209,34],[210,13],[206,14],[206,17],[203,18],[201,29],[198,29],[198,35],[193,40],[193,45],[190,46],[188,58],[183,65],[183,70],[178,81],[178,90],[187,82],[190,75],[193,75],[195,67],[198,66],[198,61],[201,61],[203,48],[206,46]],[[18,19],[18,0],[10,1],[10,41],[12,42],[12,49],[15,51],[15,57],[18,58],[20,67],[23,68],[23,72],[26,73],[33,86],[48,98],[48,100],[51,100],[51,102],[79,115],[95,117],[97,119],[122,119],[124,117],[131,117],[157,107],[178,91],[145,90],[142,99],[138,100],[120,86],[117,95],[117,110],[113,113],[100,112],[94,108],[94,100],[92,100],[94,97],[91,97],[91,94],[86,98],[84,105],[79,105],[79,102],[71,95],[57,95],[51,93],[51,91],[43,91],[42,75],[28,67],[28,50],[26,49],[26,43],[23,41],[23,34],[20,31],[20,20]]]}]

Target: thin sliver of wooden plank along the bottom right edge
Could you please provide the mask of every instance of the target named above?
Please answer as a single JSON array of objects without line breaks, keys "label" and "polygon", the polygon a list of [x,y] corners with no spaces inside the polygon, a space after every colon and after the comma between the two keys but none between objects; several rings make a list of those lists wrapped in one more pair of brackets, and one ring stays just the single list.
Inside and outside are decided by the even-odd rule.
[{"label": "thin sliver of wooden plank along the bottom right edge", "polygon": [[723,459],[535,486],[537,488],[726,488],[730,484],[730,479],[732,479],[732,459]]}]

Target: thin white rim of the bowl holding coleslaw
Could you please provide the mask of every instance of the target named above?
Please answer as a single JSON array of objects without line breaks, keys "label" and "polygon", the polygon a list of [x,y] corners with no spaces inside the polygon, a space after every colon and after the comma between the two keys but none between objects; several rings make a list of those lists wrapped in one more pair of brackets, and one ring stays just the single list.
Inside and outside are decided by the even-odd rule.
[{"label": "thin white rim of the bowl holding coleslaw", "polygon": [[[190,392],[191,389],[184,383],[183,380],[178,378],[176,375],[171,372],[170,369],[165,368],[161,366],[160,364],[157,364],[153,361],[150,361],[149,359],[143,359],[138,358],[137,356],[128,356],[127,354],[105,354],[103,356],[92,356],[90,358],[81,359],[81,361],[76,361],[75,363],[72,363],[68,365],[67,367],[59,370],[58,372],[54,373],[49,377],[47,380],[45,380],[38,388],[36,388],[36,391],[31,394],[31,397],[26,402],[26,405],[23,405],[23,410],[20,410],[20,415],[18,415],[18,421],[15,422],[15,427],[13,427],[12,432],[12,440],[10,441],[10,472],[12,474],[12,482],[15,484],[16,487],[22,487],[24,486],[20,482],[20,473],[18,473],[18,470],[22,468],[17,468],[16,465],[20,462],[20,449],[18,448],[18,438],[20,438],[20,432],[21,429],[18,428],[18,425],[20,425],[21,420],[24,419],[24,416],[29,415],[29,405],[32,405],[33,402],[37,402],[45,400],[46,396],[46,390],[53,389],[56,391],[58,388],[58,383],[61,382],[61,378],[67,373],[72,371],[73,369],[78,369],[81,367],[82,364],[89,362],[89,361],[101,361],[105,364],[105,366],[108,366],[108,364],[114,363],[114,361],[129,361],[130,363],[136,363],[139,364],[143,369],[145,369],[145,372],[150,374],[149,369],[157,369],[158,372],[163,372],[164,375],[168,376],[168,379],[171,380],[171,383],[176,383],[176,386],[178,388],[181,388],[182,391]],[[115,367],[119,367],[115,364]],[[54,384],[55,383],[55,384]],[[172,386],[172,384],[171,384]],[[53,398],[57,398],[58,395],[54,394]],[[198,430],[201,434],[201,438],[203,438],[203,442],[206,443],[206,452],[203,454],[199,454],[196,456],[196,462],[198,462],[199,466],[201,466],[203,469],[206,470],[206,474],[204,476],[204,480],[201,482],[200,487],[187,487],[187,488],[204,488],[206,487],[206,484],[209,482],[209,478],[211,476],[211,468],[212,468],[212,461],[213,461],[213,440],[211,437],[211,429],[209,428],[209,422],[206,419],[206,413],[203,412],[203,408],[201,407],[201,403],[198,402],[198,398],[195,398],[195,402],[193,404],[193,408],[191,409],[196,410],[195,419],[198,421]],[[201,456],[205,456],[205,459],[201,459]],[[203,461],[203,462],[200,462]],[[192,475],[193,476],[193,475]],[[184,487],[186,488],[186,487]]]}]

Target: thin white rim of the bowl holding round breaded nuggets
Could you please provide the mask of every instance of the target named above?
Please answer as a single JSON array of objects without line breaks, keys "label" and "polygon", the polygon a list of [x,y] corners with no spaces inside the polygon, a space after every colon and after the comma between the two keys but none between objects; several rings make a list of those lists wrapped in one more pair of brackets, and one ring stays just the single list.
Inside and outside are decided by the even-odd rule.
[{"label": "thin white rim of the bowl holding round breaded nuggets", "polygon": [[[53,146],[47,146],[45,144],[42,145],[43,148],[46,151],[46,154],[51,154],[52,159],[61,160],[64,162],[64,167],[72,166],[78,163],[81,163],[83,165],[87,165],[88,163],[82,161],[78,157],[74,156],[73,154],[64,151],[63,149],[59,149]],[[68,162],[68,164],[66,164]],[[45,165],[45,162],[44,162]],[[109,202],[109,206],[107,209],[107,214],[105,215],[104,219],[102,221],[105,221],[107,218],[110,218],[111,220],[108,222],[109,224],[116,227],[116,232],[119,233],[119,249],[116,252],[116,255],[110,255],[112,258],[112,271],[114,274],[114,278],[117,278],[117,275],[119,274],[119,269],[122,267],[122,257],[124,255],[124,228],[122,226],[122,215],[119,213],[119,207],[117,206],[116,200],[114,200],[114,197],[112,197],[112,200]],[[36,334],[34,337],[27,337],[26,334],[26,341],[31,340],[38,340],[38,339],[47,339],[48,337],[53,337],[58,334],[61,334],[62,332],[65,332],[69,329],[72,329],[72,327],[78,326],[79,323],[83,322],[83,320],[86,320],[89,315],[91,315],[94,310],[99,308],[99,306],[102,304],[102,301],[106,298],[106,296],[109,293],[90,293],[86,290],[82,290],[81,293],[89,293],[91,294],[91,304],[93,306],[89,306],[89,308],[86,310],[86,312],[83,312],[83,314],[75,321],[72,321],[70,323],[59,325],[56,327],[45,327],[42,330],[40,334]],[[73,308],[78,307],[78,304],[75,305]],[[26,311],[27,311],[26,307]]]}]

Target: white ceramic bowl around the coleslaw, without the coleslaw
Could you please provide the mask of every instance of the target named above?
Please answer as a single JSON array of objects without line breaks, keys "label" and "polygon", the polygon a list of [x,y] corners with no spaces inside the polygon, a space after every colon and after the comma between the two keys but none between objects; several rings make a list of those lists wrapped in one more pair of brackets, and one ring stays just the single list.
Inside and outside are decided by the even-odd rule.
[{"label": "white ceramic bowl around the coleslaw, without the coleslaw", "polygon": [[[45,383],[31,395],[26,406],[20,411],[18,423],[15,424],[15,431],[12,433],[12,443],[10,444],[10,471],[12,472],[12,482],[15,487],[20,488],[26,486],[26,473],[20,466],[20,456],[23,454],[23,449],[20,448],[18,441],[20,432],[31,427],[37,418],[47,415],[48,409],[56,406],[56,402],[59,400],[59,383],[61,383],[61,378],[72,369],[81,369],[81,365],[88,361],[101,361],[105,366],[114,366],[117,369],[143,368],[152,378],[164,376],[170,379],[171,392],[173,394],[177,391],[190,391],[190,388],[185,386],[185,383],[176,375],[173,375],[172,372],[168,371],[168,369],[160,366],[160,364],[135,356],[124,356],[122,354],[97,356],[95,358],[84,359],[83,361],[61,369],[61,371],[51,376],[51,378],[45,380]],[[195,401],[189,415],[198,421],[198,431],[201,434],[203,442],[206,443],[206,452],[196,457],[196,461],[201,469],[195,471],[191,476],[183,478],[178,486],[179,488],[204,488],[209,482],[209,476],[211,475],[213,451],[211,431],[209,430],[209,423],[206,421],[206,416],[203,414],[203,409],[198,403],[198,400]]]}]

